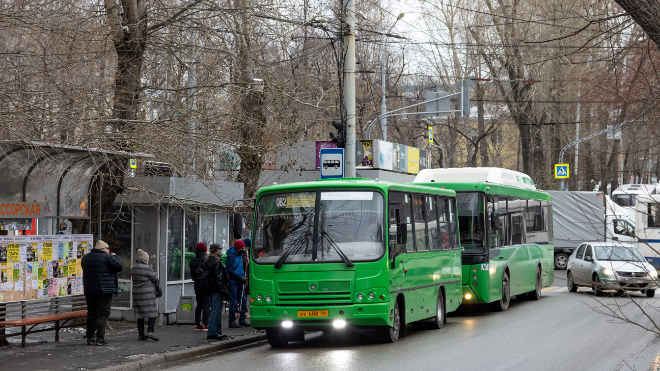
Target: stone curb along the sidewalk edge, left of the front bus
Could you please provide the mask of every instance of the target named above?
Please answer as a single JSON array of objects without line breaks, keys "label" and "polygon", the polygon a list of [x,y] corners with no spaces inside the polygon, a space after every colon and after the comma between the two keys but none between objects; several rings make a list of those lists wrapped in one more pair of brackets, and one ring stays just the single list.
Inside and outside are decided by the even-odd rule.
[{"label": "stone curb along the sidewalk edge, left of the front bus", "polygon": [[112,366],[108,368],[98,368],[97,371],[141,370],[143,368],[158,366],[158,365],[166,364],[168,362],[193,358],[196,356],[202,356],[204,354],[214,353],[217,351],[224,351],[225,349],[240,347],[242,345],[257,343],[258,341],[263,341],[265,339],[266,339],[266,334],[260,333],[258,335],[249,335],[227,341],[215,341],[208,345],[200,345],[199,347],[184,349],[183,351],[162,353],[162,354],[158,354],[157,356],[150,356],[147,358],[143,358],[141,360],[135,360],[133,362],[117,364],[117,366]]}]

